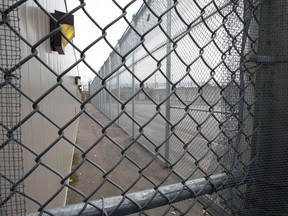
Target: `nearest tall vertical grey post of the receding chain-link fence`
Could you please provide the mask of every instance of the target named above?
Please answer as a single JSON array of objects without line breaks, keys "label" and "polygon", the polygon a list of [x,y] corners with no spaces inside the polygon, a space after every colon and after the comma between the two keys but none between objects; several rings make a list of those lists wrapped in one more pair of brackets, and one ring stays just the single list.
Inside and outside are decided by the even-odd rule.
[{"label": "nearest tall vertical grey post of the receding chain-link fence", "polygon": [[[171,0],[167,0],[167,8],[171,7]],[[171,38],[171,10],[167,12],[167,35]],[[171,52],[171,41],[169,38],[167,38],[167,45],[166,45],[166,53]],[[170,81],[171,80],[171,55],[168,55],[166,58],[166,76],[167,79]],[[166,97],[170,94],[171,92],[171,85],[170,82],[166,80]],[[170,122],[170,97],[166,100],[166,112],[165,112],[165,117],[167,121]],[[165,123],[165,138],[169,137],[170,135],[170,125],[168,122]],[[170,145],[170,140],[167,139],[165,143],[165,158],[166,158],[166,165],[169,165],[169,145]]]}]

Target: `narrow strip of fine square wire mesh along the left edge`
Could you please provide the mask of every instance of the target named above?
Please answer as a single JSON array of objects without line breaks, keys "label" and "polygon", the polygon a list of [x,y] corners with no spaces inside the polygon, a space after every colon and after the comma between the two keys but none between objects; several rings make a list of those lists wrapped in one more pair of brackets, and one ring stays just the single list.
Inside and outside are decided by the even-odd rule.
[{"label": "narrow strip of fine square wire mesh along the left edge", "polygon": [[[23,184],[23,153],[21,130],[12,128],[20,121],[20,39],[11,31],[19,32],[18,9],[9,10],[17,1],[1,1],[0,25],[0,201],[1,215],[25,212]],[[9,16],[7,16],[9,14]]]}]

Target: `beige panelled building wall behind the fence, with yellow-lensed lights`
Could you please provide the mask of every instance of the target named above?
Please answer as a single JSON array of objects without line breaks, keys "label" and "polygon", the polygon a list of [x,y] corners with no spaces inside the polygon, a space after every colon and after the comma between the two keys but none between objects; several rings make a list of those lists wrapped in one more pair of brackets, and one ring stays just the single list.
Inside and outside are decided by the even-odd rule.
[{"label": "beige panelled building wall behind the fence, with yellow-lensed lights", "polygon": [[[39,3],[48,11],[59,10],[65,12],[64,0],[40,0]],[[44,35],[49,33],[49,18],[33,2],[27,1],[19,8],[20,33],[29,41],[35,44]],[[73,50],[69,45],[65,48],[65,55],[59,55],[51,51],[49,39],[37,47],[38,57],[44,61],[57,74],[62,73],[68,66],[75,62]],[[31,48],[21,41],[22,59],[31,54]],[[29,95],[34,101],[56,84],[56,76],[51,73],[36,58],[32,58],[21,68],[22,91]],[[64,86],[74,95],[80,97],[77,86],[74,84],[75,70],[63,77]],[[22,97],[22,119],[33,111],[32,103]],[[79,104],[69,96],[61,87],[57,87],[47,97],[39,103],[40,111],[48,116],[60,128],[63,127],[77,112]],[[65,137],[75,142],[78,121],[75,121],[64,131]],[[35,113],[22,126],[22,142],[40,154],[58,137],[57,127],[43,118],[39,113]],[[27,173],[35,165],[35,155],[24,150],[24,171]],[[71,168],[73,147],[64,139],[60,139],[42,158],[42,162],[53,168],[62,176],[67,175]],[[40,203],[47,201],[60,188],[61,178],[53,172],[39,165],[37,169],[25,180],[25,193],[34,197]],[[62,206],[66,202],[66,189],[49,203],[49,207]],[[26,199],[27,212],[35,211],[39,206]]]}]

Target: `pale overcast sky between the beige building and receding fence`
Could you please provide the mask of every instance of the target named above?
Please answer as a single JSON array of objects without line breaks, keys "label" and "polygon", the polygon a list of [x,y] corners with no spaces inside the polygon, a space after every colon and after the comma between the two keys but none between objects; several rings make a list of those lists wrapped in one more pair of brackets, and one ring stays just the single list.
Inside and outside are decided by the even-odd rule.
[{"label": "pale overcast sky between the beige building and receding fence", "polygon": [[[118,0],[117,2],[120,6],[124,7],[130,1],[131,0]],[[85,0],[85,3],[86,11],[102,28],[107,26],[122,13],[112,0]],[[126,16],[129,21],[131,21],[132,15],[136,14],[142,3],[142,0],[137,0],[129,6],[127,9],[128,14]],[[67,4],[68,10],[71,10],[79,5],[79,0],[68,0]],[[73,39],[73,42],[81,50],[85,49],[85,47],[101,36],[101,31],[91,22],[91,20],[89,20],[81,9],[74,13],[74,20],[75,38]],[[113,46],[117,44],[117,41],[123,35],[127,27],[128,24],[124,19],[121,19],[107,30],[107,39]],[[94,70],[98,71],[111,51],[111,48],[106,42],[101,40],[87,51],[86,61]],[[77,58],[79,58],[78,54]],[[78,68],[83,84],[86,84],[89,79],[95,76],[84,64],[79,65]]]}]

